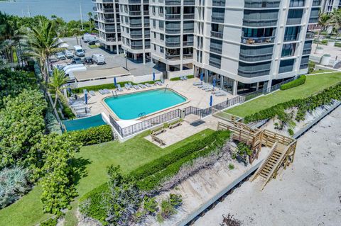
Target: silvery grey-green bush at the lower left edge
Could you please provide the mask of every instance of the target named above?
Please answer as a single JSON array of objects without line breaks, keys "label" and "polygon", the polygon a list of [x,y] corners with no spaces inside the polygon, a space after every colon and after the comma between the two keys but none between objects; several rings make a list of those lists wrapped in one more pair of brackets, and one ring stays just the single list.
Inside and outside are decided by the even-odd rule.
[{"label": "silvery grey-green bush at the lower left edge", "polygon": [[0,209],[15,202],[28,191],[28,170],[21,167],[0,171]]}]

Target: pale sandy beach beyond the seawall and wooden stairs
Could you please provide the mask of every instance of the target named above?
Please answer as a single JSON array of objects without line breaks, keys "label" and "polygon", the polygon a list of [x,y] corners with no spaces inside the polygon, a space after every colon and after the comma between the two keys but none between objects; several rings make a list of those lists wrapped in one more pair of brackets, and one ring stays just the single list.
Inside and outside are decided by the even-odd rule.
[{"label": "pale sandy beach beyond the seawall and wooden stairs", "polygon": [[341,108],[298,140],[293,165],[260,186],[247,181],[195,226],[220,225],[229,213],[242,225],[341,225]]}]

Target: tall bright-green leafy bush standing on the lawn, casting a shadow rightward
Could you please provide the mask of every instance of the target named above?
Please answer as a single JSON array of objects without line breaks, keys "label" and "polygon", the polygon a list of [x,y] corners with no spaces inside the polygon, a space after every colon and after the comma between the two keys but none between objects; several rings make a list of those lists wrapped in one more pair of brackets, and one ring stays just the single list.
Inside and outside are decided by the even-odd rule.
[{"label": "tall bright-green leafy bush standing on the lawn, casting a shadow rightward", "polygon": [[45,135],[36,146],[42,153],[43,167],[36,170],[43,178],[40,180],[43,193],[40,198],[45,213],[60,214],[77,196],[75,188],[75,153],[80,143],[71,135]]}]

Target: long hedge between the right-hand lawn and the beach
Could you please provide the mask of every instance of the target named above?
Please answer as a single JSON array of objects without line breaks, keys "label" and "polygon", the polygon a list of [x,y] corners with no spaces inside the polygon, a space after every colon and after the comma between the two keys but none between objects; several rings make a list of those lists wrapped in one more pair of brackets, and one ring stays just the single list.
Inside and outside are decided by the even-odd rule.
[{"label": "long hedge between the right-hand lawn and the beach", "polygon": [[275,106],[266,108],[252,115],[247,115],[247,117],[244,118],[244,122],[251,123],[259,120],[274,118],[276,115],[284,114],[284,110],[293,107],[298,108],[296,120],[300,121],[304,119],[305,113],[307,111],[313,111],[315,108],[328,104],[334,99],[341,99],[341,83],[325,89],[315,96],[278,103]]}]

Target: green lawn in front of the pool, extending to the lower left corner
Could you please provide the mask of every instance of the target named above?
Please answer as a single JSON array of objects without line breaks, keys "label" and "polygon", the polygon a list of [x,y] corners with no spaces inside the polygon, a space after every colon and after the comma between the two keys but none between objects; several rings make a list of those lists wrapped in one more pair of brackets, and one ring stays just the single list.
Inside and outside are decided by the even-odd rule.
[{"label": "green lawn in front of the pool, extending to the lower left corner", "polygon": [[[88,191],[107,181],[107,166],[111,164],[121,165],[122,171],[128,173],[142,164],[168,154],[188,142],[199,140],[212,132],[213,130],[204,130],[165,149],[161,149],[145,140],[143,137],[146,133],[124,143],[115,141],[82,147],[80,152],[77,153],[78,169],[82,174],[77,183],[77,191],[80,196],[83,196]],[[40,193],[40,186],[36,186],[18,202],[0,210],[0,225],[31,226],[47,219],[49,215],[42,212]],[[75,225],[75,208],[77,208],[77,200],[72,203],[72,210],[66,214],[66,225]]]}]

